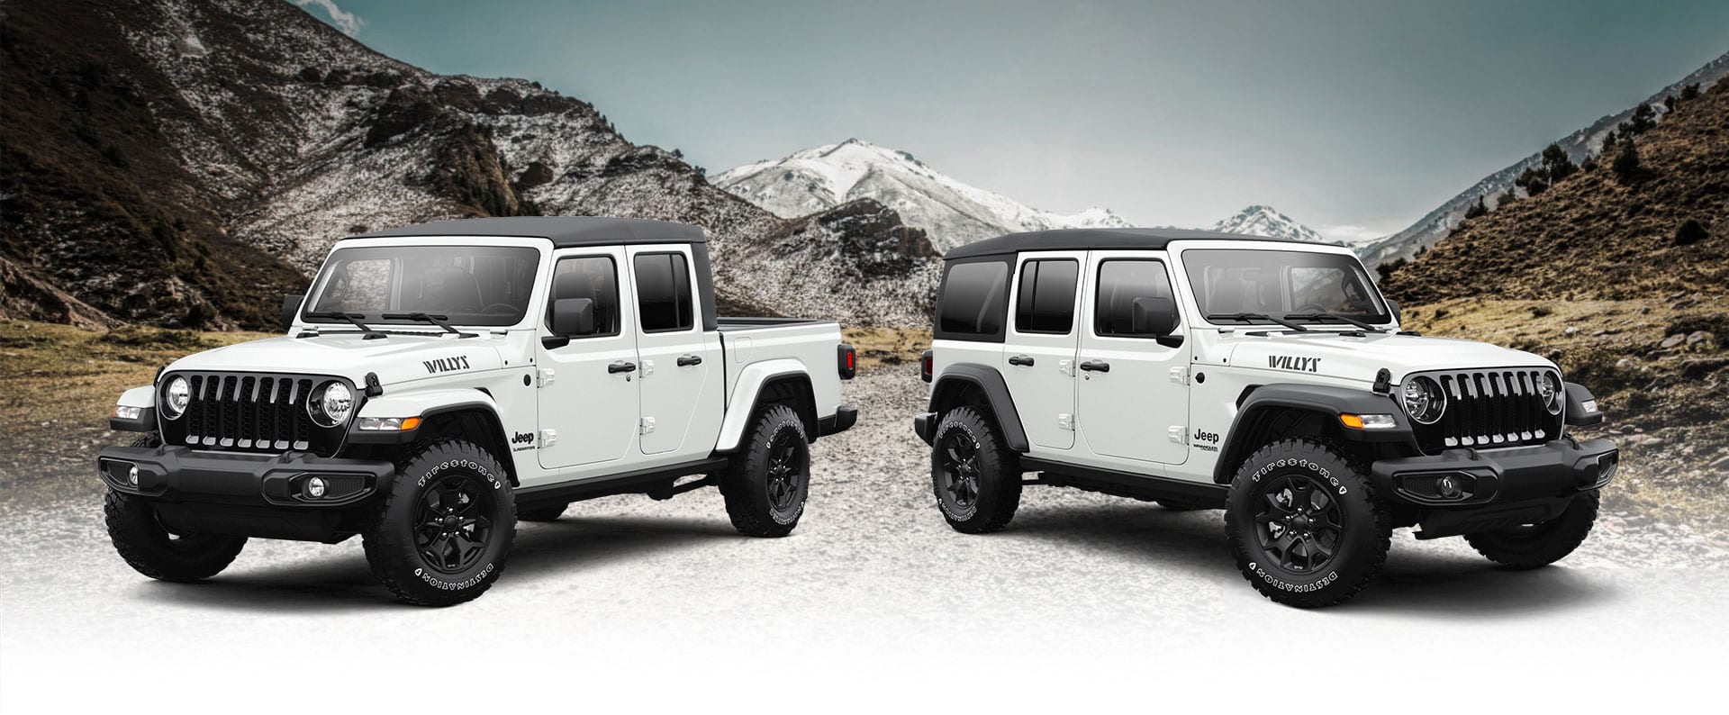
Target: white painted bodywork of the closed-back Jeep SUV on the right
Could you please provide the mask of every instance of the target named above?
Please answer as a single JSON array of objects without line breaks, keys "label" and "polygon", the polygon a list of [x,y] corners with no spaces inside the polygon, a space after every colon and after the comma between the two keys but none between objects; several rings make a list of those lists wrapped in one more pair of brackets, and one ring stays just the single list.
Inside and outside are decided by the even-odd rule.
[{"label": "white painted bodywork of the closed-back Jeep SUV on the right", "polygon": [[[1015,256],[1005,342],[934,340],[932,389],[958,363],[996,366],[1010,390],[1027,454],[1079,466],[1212,482],[1219,447],[1229,439],[1238,399],[1250,387],[1271,383],[1328,385],[1369,392],[1380,370],[1399,385],[1407,375],[1432,370],[1556,368],[1530,352],[1471,340],[1397,335],[1352,335],[1347,325],[1309,325],[1292,333],[1278,325],[1215,325],[1200,314],[1183,268],[1183,252],[1196,249],[1304,250],[1352,256],[1350,249],[1257,240],[1174,240],[1165,250],[1024,250]],[[1029,259],[1079,257],[1084,264],[1070,335],[1027,335],[1015,330],[1020,268]],[[1094,325],[1100,266],[1143,259],[1167,266],[1181,323],[1181,347],[1150,339],[1100,335]],[[1070,352],[1070,342],[1074,347]],[[1072,354],[1074,371],[1058,373]],[[1010,364],[1032,358],[1034,366]],[[1046,361],[1053,364],[1046,364]],[[1103,361],[1110,371],[1079,370]],[[1053,430],[1065,404],[1074,404],[1074,442]],[[1388,409],[1399,409],[1388,401]]]}]

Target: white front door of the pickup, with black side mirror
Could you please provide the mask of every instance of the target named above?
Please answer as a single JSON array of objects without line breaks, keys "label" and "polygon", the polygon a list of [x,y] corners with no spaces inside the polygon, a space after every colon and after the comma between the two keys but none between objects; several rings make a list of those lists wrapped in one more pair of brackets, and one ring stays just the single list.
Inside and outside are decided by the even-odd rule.
[{"label": "white front door of the pickup, with black side mirror", "polygon": [[[629,295],[624,249],[579,249],[553,256],[552,290],[541,306],[541,468],[626,459],[636,439],[636,330],[621,297]],[[552,335],[552,301],[595,301],[595,333]],[[552,339],[548,342],[546,339]]]}]

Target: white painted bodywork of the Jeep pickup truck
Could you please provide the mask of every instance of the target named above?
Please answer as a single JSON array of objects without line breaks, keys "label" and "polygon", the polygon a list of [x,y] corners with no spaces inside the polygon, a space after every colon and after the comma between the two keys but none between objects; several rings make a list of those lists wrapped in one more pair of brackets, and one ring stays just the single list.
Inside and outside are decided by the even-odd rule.
[{"label": "white painted bodywork of the Jeep pickup truck", "polygon": [[[344,376],[365,385],[375,375],[384,394],[356,414],[406,418],[453,406],[496,411],[522,487],[577,482],[622,471],[673,466],[735,449],[750,421],[764,380],[802,375],[816,414],[840,406],[835,345],[840,328],[825,321],[766,321],[704,330],[697,263],[688,244],[581,247],[553,250],[539,238],[392,237],[351,238],[334,250],[391,245],[520,245],[541,252],[527,314],[508,326],[460,326],[474,337],[431,325],[389,325],[367,340],[341,323],[296,318],[287,337],[254,340],[185,356],[175,371],[271,371]],[[631,257],[678,252],[692,282],[693,326],[648,333],[641,328]],[[545,347],[552,275],[558,259],[605,256],[617,266],[619,330]],[[740,349],[730,351],[738,344]],[[700,363],[679,366],[679,358]],[[633,363],[635,371],[609,371]],[[119,404],[149,408],[154,387],[128,390]],[[652,420],[652,428],[648,428]],[[723,427],[724,425],[724,427]]]}]

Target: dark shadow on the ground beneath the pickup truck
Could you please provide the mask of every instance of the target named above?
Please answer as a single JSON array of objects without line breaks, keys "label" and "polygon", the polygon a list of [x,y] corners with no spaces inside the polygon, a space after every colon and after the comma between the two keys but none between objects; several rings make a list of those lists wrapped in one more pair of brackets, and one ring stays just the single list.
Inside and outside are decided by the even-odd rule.
[{"label": "dark shadow on the ground beneath the pickup truck", "polygon": [[[358,539],[358,537],[356,537]],[[690,547],[700,539],[745,539],[724,520],[648,516],[572,518],[517,525],[517,541],[501,580],[520,584],[569,573],[650,551]],[[349,546],[353,544],[353,547]],[[240,554],[244,561],[246,553]],[[372,577],[360,542],[344,542],[311,561],[223,573],[197,584],[147,582],[142,598],[161,604],[251,611],[346,611],[403,608]],[[486,596],[482,596],[486,598]]]}]

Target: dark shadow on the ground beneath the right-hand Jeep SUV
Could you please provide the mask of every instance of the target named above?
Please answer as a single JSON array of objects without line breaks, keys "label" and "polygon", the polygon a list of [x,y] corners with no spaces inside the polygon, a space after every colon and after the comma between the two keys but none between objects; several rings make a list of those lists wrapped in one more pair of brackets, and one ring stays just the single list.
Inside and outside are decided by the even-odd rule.
[{"label": "dark shadow on the ground beneath the right-hand Jeep SUV", "polygon": [[[1005,535],[1065,541],[1072,549],[1101,549],[1153,568],[1183,570],[1250,592],[1238,573],[1219,511],[1167,511],[1124,503],[1034,509],[1017,515]],[[1454,549],[1449,549],[1454,551]],[[1387,563],[1349,603],[1319,613],[1390,613],[1402,617],[1518,618],[1573,610],[1615,599],[1608,579],[1566,568],[1513,570],[1459,544],[1437,551],[1407,532],[1395,532]]]}]

